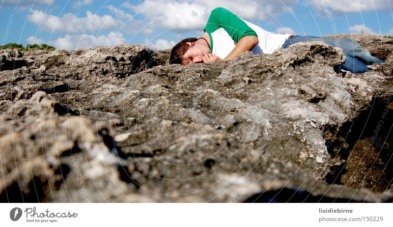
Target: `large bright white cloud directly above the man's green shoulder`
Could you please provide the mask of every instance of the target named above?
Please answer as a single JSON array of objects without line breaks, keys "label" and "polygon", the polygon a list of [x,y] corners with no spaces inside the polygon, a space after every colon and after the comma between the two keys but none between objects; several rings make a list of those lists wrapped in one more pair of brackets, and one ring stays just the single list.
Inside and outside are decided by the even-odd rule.
[{"label": "large bright white cloud directly above the man's green shoulder", "polygon": [[[212,9],[225,7],[240,18],[250,22],[264,20],[290,12],[298,4],[293,0],[145,0],[140,4],[123,4],[137,14],[142,14],[156,28],[197,30],[206,25]],[[242,7],[239,7],[241,5]]]}]

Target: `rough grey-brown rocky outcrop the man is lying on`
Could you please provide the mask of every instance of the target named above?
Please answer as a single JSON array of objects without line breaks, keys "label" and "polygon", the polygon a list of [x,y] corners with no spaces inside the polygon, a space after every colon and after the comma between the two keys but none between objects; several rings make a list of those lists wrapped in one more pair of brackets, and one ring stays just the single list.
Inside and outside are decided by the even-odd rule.
[{"label": "rough grey-brown rocky outcrop the man is lying on", "polygon": [[186,66],[133,45],[1,55],[1,201],[393,198],[391,64],[339,71],[318,42]]}]

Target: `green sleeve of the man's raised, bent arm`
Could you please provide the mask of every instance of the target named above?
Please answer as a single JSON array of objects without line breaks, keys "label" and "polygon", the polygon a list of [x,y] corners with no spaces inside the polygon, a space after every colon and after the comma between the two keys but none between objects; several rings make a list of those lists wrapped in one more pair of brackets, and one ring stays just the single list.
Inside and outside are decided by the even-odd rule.
[{"label": "green sleeve of the man's raised, bent arm", "polygon": [[258,37],[256,32],[244,23],[244,21],[222,7],[212,10],[204,30],[210,34],[219,28],[224,28],[236,42],[239,42],[241,38],[248,35]]}]

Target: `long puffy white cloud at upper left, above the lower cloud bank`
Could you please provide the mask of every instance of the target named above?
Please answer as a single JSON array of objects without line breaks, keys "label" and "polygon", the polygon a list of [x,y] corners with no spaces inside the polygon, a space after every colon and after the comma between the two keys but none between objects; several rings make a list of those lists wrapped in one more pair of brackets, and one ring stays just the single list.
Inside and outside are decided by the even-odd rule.
[{"label": "long puffy white cloud at upper left, above the lower cloud bank", "polygon": [[39,26],[40,30],[54,33],[80,33],[84,30],[96,32],[100,29],[116,28],[119,23],[110,15],[99,16],[90,11],[86,11],[86,17],[83,18],[76,17],[72,13],[64,14],[60,18],[41,10],[31,10],[28,21]]}]

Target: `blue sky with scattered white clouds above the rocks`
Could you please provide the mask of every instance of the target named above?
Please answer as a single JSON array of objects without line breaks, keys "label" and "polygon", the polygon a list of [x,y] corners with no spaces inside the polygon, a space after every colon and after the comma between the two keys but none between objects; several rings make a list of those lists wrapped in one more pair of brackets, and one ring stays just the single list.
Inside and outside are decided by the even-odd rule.
[{"label": "blue sky with scattered white clouds above the rocks", "polygon": [[0,44],[167,49],[219,6],[276,33],[393,35],[393,0],[0,0]]}]

